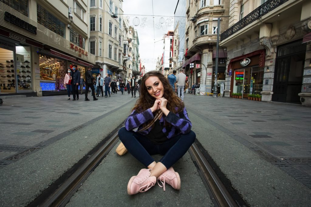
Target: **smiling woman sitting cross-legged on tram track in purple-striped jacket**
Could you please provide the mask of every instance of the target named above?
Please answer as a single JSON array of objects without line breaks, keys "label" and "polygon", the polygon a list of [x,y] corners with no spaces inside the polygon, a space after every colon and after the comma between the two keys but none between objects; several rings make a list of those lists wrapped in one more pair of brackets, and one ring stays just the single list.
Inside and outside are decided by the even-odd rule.
[{"label": "smiling woman sitting cross-legged on tram track in purple-striped jacket", "polygon": [[[158,180],[180,189],[180,177],[172,165],[176,163],[194,142],[191,121],[182,101],[173,95],[168,80],[159,71],[147,72],[142,78],[141,97],[125,127],[118,132],[129,153],[147,167],[128,182],[128,194],[145,192]],[[158,117],[158,119],[154,119]],[[133,129],[138,127],[138,132]],[[156,162],[151,155],[164,155]]]}]

